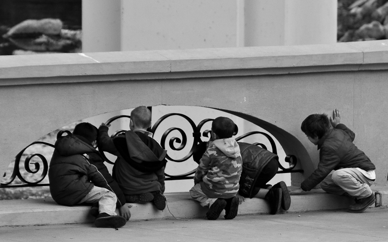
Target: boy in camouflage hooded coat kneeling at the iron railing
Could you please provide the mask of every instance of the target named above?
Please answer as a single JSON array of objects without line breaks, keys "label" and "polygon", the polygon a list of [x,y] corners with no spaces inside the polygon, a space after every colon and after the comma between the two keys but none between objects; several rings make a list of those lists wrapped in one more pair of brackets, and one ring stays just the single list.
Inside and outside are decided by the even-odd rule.
[{"label": "boy in camouflage hooded coat kneeling at the iron railing", "polygon": [[217,117],[211,125],[209,147],[203,154],[194,175],[194,186],[190,189],[193,199],[208,207],[206,217],[217,219],[225,209],[225,219],[236,217],[239,208],[239,181],[242,172],[240,147],[232,138],[235,130],[233,121]]}]

